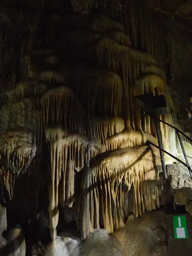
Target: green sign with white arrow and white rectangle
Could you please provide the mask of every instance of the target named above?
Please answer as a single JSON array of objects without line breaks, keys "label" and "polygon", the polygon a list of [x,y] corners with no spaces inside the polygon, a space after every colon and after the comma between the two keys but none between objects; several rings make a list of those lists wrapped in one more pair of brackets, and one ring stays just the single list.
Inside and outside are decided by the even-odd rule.
[{"label": "green sign with white arrow and white rectangle", "polygon": [[187,222],[184,215],[173,216],[173,228],[175,239],[188,239]]}]

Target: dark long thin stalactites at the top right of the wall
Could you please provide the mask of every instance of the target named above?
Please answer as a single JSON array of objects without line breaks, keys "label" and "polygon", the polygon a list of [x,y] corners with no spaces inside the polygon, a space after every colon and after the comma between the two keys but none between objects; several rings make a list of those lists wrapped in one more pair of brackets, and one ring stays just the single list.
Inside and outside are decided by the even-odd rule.
[{"label": "dark long thin stalactites at the top right of the wall", "polygon": [[134,48],[150,53],[161,65],[165,63],[164,28],[141,1],[127,1],[125,8],[111,8],[108,15],[126,28]]}]

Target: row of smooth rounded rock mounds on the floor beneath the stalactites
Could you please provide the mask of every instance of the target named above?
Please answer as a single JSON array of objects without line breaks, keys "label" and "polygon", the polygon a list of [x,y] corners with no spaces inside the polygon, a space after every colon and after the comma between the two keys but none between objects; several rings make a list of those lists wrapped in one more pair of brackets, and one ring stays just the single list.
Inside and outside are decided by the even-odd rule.
[{"label": "row of smooth rounded rock mounds on the floor beneath the stalactites", "polygon": [[165,212],[148,212],[139,219],[129,216],[125,227],[112,235],[95,229],[83,243],[76,237],[57,236],[48,245],[45,256],[165,256],[166,235]]}]

